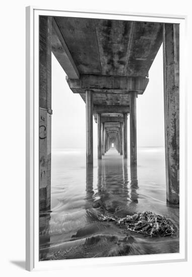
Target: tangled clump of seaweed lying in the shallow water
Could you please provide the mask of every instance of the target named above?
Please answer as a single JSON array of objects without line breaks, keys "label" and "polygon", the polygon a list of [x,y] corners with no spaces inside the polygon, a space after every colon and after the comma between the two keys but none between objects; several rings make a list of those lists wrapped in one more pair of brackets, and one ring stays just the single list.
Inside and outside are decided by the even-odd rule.
[{"label": "tangled clump of seaweed lying in the shallow water", "polygon": [[124,224],[129,231],[151,237],[172,236],[176,231],[175,226],[168,218],[156,215],[153,212],[138,213],[124,218],[101,215],[99,220],[115,221],[117,225]]}]

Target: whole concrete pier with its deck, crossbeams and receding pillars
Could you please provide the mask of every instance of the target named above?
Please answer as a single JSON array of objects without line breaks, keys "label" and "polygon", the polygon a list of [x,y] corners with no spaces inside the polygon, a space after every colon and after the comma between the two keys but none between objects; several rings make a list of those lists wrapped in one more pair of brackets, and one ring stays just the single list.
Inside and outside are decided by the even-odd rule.
[{"label": "whole concrete pier with its deck, crossbeams and receding pillars", "polygon": [[[162,43],[166,198],[167,202],[178,204],[179,25],[39,17],[40,210],[50,209],[51,52],[65,71],[72,93],[80,94],[85,102],[87,166],[93,166],[95,120],[98,160],[102,162],[112,144],[124,164],[129,152],[134,182],[137,180],[137,96],[145,97],[148,72]],[[130,120],[130,130],[127,130],[127,120]],[[127,145],[127,131],[130,145]]]}]

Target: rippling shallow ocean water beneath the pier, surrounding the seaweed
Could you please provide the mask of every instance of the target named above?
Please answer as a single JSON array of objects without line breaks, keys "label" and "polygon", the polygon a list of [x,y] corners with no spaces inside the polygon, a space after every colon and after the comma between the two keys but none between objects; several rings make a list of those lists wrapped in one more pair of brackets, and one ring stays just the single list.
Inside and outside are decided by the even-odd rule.
[{"label": "rippling shallow ocean water beneath the pier, surrounding the seaweed", "polygon": [[[40,215],[40,260],[179,252],[179,207],[166,203],[163,148],[138,148],[137,180],[129,158],[110,149],[86,168],[84,149],[52,151],[51,211]],[[119,217],[152,211],[172,220],[172,237],[127,231],[100,214]]]}]

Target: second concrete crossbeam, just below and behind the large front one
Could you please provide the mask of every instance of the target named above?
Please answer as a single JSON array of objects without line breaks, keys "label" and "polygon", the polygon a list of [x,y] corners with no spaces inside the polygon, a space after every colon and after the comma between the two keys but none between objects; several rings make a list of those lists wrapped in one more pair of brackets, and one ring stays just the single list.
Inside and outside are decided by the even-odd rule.
[{"label": "second concrete crossbeam, just below and behind the large front one", "polygon": [[129,113],[129,106],[120,106],[120,105],[94,105],[93,106],[94,113]]}]

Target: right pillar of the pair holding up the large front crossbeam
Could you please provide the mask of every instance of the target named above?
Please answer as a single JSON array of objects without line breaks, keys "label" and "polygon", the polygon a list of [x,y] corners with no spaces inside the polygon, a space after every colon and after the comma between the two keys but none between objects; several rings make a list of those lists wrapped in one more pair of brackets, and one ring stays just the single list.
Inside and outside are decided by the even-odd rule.
[{"label": "right pillar of the pair holding up the large front crossbeam", "polygon": [[130,93],[130,167],[132,175],[137,175],[137,114],[136,114],[137,93]]}]

